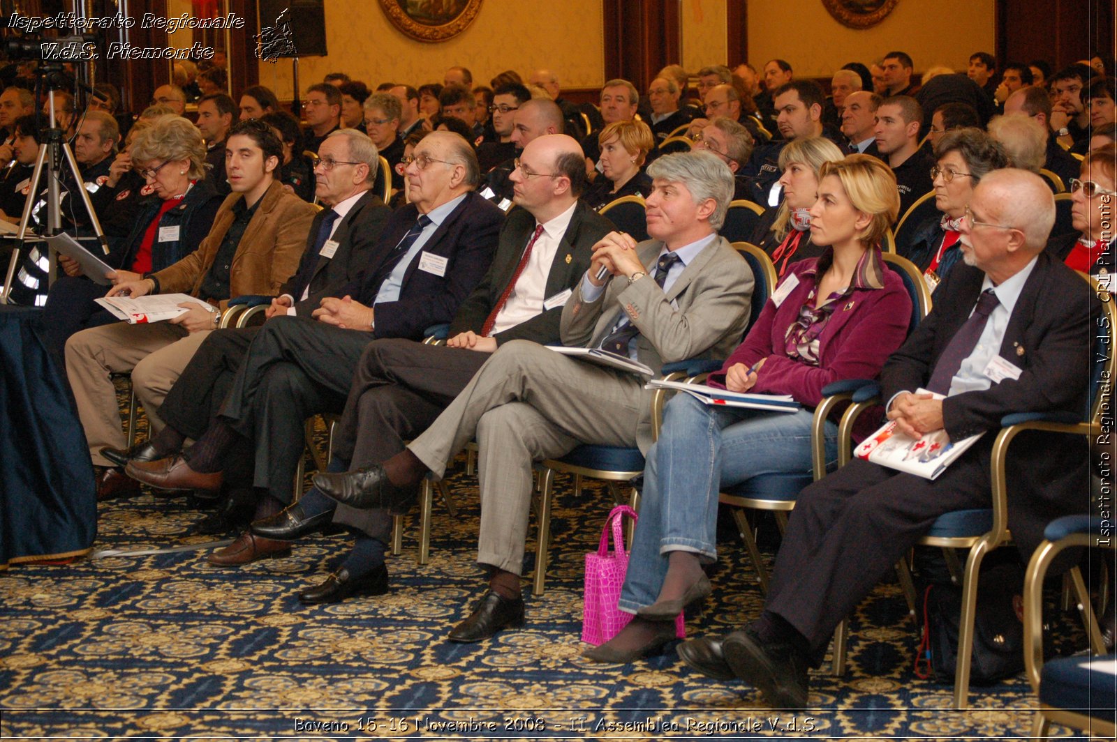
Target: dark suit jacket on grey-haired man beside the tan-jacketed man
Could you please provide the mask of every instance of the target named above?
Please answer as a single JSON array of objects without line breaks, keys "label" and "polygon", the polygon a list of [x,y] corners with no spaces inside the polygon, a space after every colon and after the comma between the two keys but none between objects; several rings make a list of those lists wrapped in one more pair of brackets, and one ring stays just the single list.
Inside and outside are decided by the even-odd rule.
[{"label": "dark suit jacket on grey-haired man beside the tan-jacketed man", "polygon": [[[321,306],[323,298],[338,296],[342,288],[355,281],[365,267],[383,259],[380,254],[382,251],[394,247],[385,245],[380,239],[392,211],[380,196],[365,191],[334,230],[333,239],[337,242],[337,251],[333,258],[323,258],[312,252],[327,211],[323,209],[315,214],[298,269],[279,289],[279,296],[289,293],[294,297],[295,314],[299,317],[309,317]],[[308,285],[309,295],[305,301],[299,301],[298,298]]]}]

